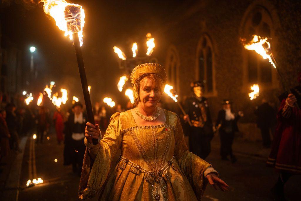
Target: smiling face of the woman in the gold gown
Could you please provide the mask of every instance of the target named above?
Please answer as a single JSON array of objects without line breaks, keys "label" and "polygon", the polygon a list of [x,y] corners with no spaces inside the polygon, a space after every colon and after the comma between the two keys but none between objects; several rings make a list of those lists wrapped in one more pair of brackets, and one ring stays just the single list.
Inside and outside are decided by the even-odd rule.
[{"label": "smiling face of the woman in the gold gown", "polygon": [[161,92],[151,79],[141,80],[139,87],[139,105],[147,108],[155,108],[160,100]]}]

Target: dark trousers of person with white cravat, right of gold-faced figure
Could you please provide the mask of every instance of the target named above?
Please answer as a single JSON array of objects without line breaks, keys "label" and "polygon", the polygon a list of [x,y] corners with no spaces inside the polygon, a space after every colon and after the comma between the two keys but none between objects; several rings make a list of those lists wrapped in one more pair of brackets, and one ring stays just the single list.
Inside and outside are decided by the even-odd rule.
[{"label": "dark trousers of person with white cravat, right of gold-faced figure", "polygon": [[234,139],[234,132],[227,133],[224,130],[220,129],[219,130],[219,137],[221,140],[221,157],[222,159],[227,158],[228,155],[230,157],[233,156],[232,153],[232,143]]}]

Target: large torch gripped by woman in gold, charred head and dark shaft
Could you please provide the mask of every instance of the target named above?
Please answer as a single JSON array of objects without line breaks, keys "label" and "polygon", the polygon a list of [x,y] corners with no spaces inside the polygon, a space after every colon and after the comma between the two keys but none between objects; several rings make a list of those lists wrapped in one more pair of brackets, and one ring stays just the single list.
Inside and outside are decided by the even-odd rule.
[{"label": "large torch gripped by woman in gold, charred head and dark shaft", "polygon": [[[80,80],[82,82],[82,92],[84,93],[85,105],[88,114],[88,121],[91,124],[95,124],[94,115],[92,111],[92,105],[88,90],[88,82],[85,73],[84,61],[82,58],[82,49],[80,47],[79,33],[82,34],[82,15],[84,16],[83,9],[80,5],[67,5],[65,7],[65,20],[67,22],[67,29],[69,33],[72,33],[73,43],[76,53],[76,59],[79,69]],[[94,145],[98,144],[98,140],[92,138],[92,142]]]}]

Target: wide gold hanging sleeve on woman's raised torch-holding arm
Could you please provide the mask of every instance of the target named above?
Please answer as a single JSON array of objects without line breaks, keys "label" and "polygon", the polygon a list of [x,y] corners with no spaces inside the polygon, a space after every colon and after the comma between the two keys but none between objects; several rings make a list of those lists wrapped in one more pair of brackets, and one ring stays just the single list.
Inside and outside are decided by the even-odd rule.
[{"label": "wide gold hanging sleeve on woman's raised torch-holding arm", "polygon": [[88,147],[86,148],[79,181],[80,199],[92,198],[102,190],[110,171],[112,158],[120,149],[121,130],[120,113],[116,112],[110,119],[104,138],[100,140],[99,145],[95,146],[95,148],[99,148],[97,148],[98,153],[94,161]]}]

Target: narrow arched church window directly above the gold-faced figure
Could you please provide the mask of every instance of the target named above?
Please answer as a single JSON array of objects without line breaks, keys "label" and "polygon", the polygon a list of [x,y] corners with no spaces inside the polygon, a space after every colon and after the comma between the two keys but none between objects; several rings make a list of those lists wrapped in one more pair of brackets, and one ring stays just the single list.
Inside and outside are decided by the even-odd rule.
[{"label": "narrow arched church window directly above the gold-faced figure", "polygon": [[212,49],[212,42],[209,36],[204,34],[197,46],[196,59],[196,79],[204,83],[205,94],[215,94],[215,80],[214,80],[214,55]]}]

